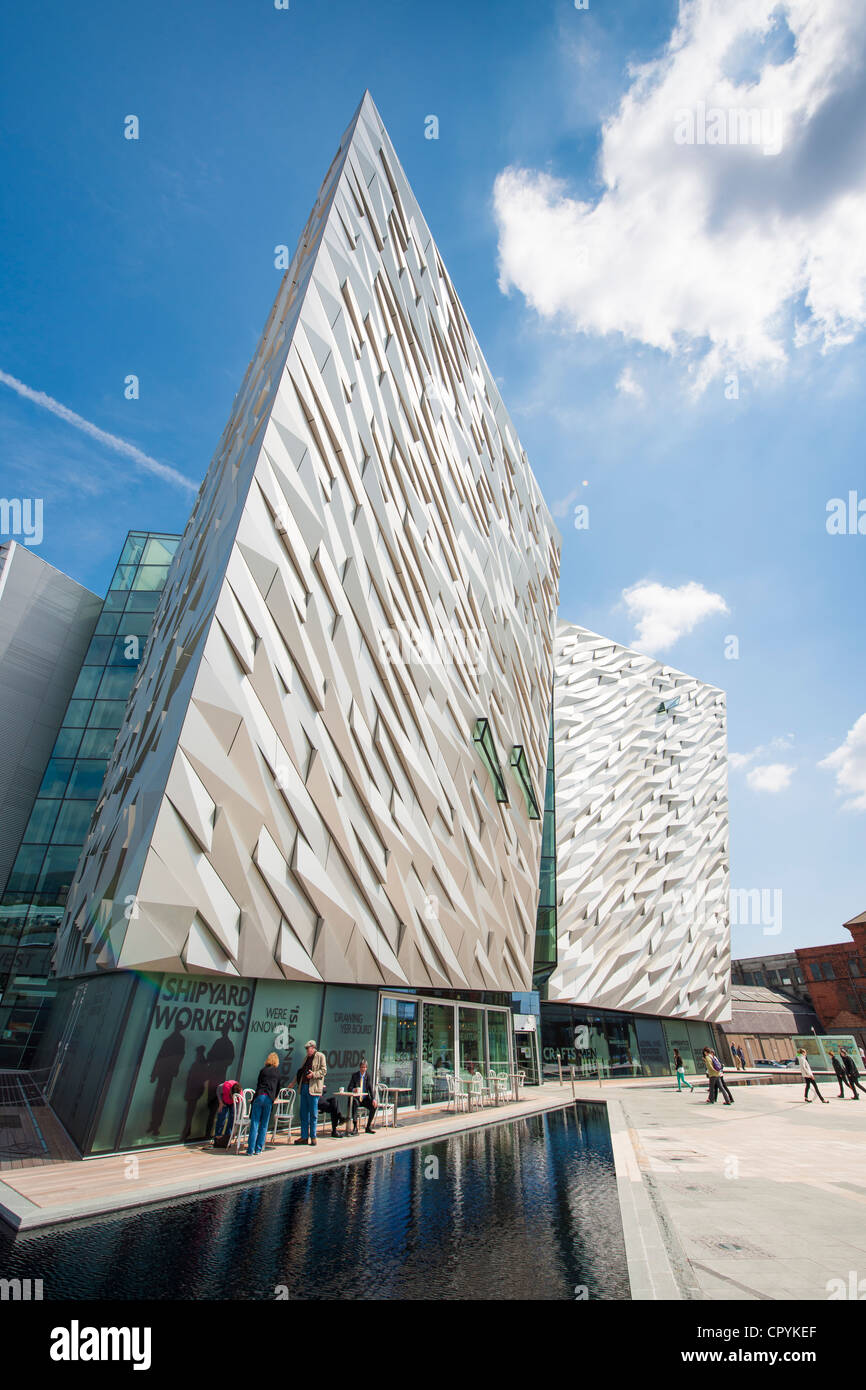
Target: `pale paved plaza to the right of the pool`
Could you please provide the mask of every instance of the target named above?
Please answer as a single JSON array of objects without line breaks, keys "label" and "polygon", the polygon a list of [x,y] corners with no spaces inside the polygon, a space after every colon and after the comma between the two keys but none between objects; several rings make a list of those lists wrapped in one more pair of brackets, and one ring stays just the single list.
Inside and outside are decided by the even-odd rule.
[{"label": "pale paved plaza to the right of the pool", "polygon": [[740,1081],[734,1105],[710,1106],[703,1086],[605,1086],[644,1202],[644,1220],[627,1229],[630,1273],[635,1234],[648,1241],[634,1297],[671,1297],[671,1275],[683,1298],[827,1300],[831,1282],[848,1289],[852,1275],[866,1290],[866,1095],[838,1099],[830,1081],[822,1091],[828,1105],[805,1105],[796,1083]]}]

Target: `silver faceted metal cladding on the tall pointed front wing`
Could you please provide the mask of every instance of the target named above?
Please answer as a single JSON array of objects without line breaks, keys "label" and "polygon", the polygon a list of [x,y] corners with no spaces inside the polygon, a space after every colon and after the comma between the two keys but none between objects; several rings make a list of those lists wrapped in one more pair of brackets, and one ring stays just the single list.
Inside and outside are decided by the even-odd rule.
[{"label": "silver faceted metal cladding on the tall pointed front wing", "polygon": [[525,988],[541,823],[507,763],[544,795],[557,577],[366,96],[170,571],[60,973]]}]

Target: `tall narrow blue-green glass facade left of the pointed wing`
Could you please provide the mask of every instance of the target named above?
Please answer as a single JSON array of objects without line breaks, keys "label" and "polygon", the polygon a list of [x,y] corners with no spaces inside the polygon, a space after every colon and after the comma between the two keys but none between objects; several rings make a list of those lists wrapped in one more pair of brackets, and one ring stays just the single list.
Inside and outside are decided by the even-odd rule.
[{"label": "tall narrow blue-green glass facade left of the pointed wing", "polygon": [[131,531],[0,902],[0,1066],[29,1066],[51,951],[177,535]]}]

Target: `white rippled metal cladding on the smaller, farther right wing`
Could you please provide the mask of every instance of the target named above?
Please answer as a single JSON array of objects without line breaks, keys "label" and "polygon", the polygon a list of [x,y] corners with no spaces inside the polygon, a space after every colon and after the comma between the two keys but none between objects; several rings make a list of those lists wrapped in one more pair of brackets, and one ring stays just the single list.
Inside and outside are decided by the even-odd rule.
[{"label": "white rippled metal cladding on the smaller, farther right wing", "polygon": [[557,623],[556,634],[557,965],[548,998],[721,1022],[724,694],[587,628]]}]

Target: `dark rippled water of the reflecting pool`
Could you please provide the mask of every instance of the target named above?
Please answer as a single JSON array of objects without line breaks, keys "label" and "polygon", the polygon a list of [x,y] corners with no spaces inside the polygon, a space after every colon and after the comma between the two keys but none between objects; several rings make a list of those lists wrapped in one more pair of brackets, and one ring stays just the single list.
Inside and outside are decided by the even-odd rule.
[{"label": "dark rippled water of the reflecting pool", "polygon": [[86,1300],[630,1297],[606,1113],[580,1104],[42,1234],[0,1227],[0,1277]]}]

